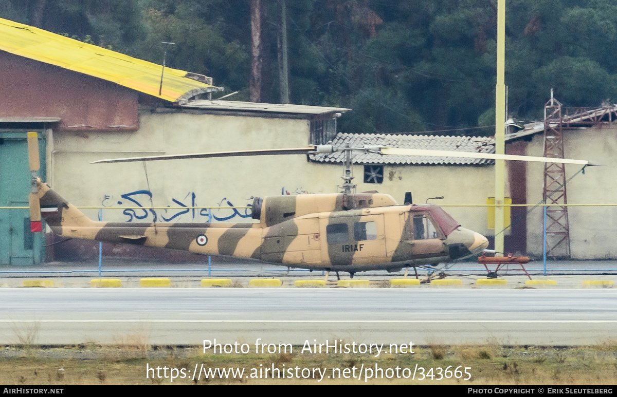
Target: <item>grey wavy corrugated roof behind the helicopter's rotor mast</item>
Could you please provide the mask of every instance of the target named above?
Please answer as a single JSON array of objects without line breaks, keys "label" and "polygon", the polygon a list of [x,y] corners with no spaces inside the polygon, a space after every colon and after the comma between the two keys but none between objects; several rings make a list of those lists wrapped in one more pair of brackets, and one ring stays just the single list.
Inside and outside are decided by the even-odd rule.
[{"label": "grey wavy corrugated roof behind the helicopter's rotor mast", "polygon": [[[495,141],[487,137],[338,133],[332,144],[335,147],[345,146],[347,144],[351,147],[385,145],[404,149],[458,150],[459,152],[495,153]],[[329,155],[311,155],[310,158],[317,162],[342,163],[344,162],[344,153],[337,152]],[[383,156],[375,153],[354,153],[354,163],[489,165],[493,164],[494,160],[462,157]]]}]

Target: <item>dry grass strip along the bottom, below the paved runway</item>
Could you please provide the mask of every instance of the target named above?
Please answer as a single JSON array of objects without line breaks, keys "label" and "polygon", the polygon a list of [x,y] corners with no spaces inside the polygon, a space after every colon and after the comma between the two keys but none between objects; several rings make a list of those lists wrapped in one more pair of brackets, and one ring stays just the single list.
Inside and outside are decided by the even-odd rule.
[{"label": "dry grass strip along the bottom, below the paved runway", "polygon": [[[149,346],[140,333],[118,337],[116,345],[80,345],[43,349],[33,346],[30,356],[17,356],[17,345],[4,346],[0,350],[0,383],[6,385],[169,385],[171,369],[190,370],[190,376],[178,377],[173,384],[358,384],[361,367],[383,370],[383,378],[368,379],[367,384],[457,384],[457,385],[613,385],[617,383],[617,360],[613,351],[605,351],[604,345],[578,346],[495,346],[444,345],[431,343],[416,346],[415,354],[300,354],[302,346],[293,346],[291,353],[281,354],[201,354],[201,346]],[[384,346],[386,348],[386,346]],[[17,350],[17,351],[15,351]],[[507,357],[500,354],[508,351]],[[14,357],[8,357],[13,352]],[[113,354],[111,354],[111,353]],[[484,353],[486,354],[484,354]],[[2,356],[4,354],[4,356]],[[110,357],[122,359],[109,359]],[[193,371],[220,369],[241,370],[221,379],[217,376],[202,376],[193,380]],[[411,376],[416,365],[424,369],[424,379]],[[146,373],[160,367],[162,377],[152,378]],[[167,367],[167,378],[163,368]],[[387,378],[395,374],[397,378]],[[459,368],[460,367],[460,368]],[[449,368],[452,373],[459,368],[468,370],[471,380],[440,379],[438,373]],[[296,368],[299,372],[296,372]],[[441,371],[438,370],[441,368]],[[268,369],[268,372],[265,372]],[[283,371],[292,370],[292,377],[277,377]],[[410,369],[411,372],[402,372]],[[429,369],[433,369],[429,372]],[[304,370],[304,373],[302,372]],[[344,377],[356,372],[356,379]],[[261,373],[260,373],[261,371]],[[418,370],[420,371],[420,370]],[[272,374],[275,374],[274,378]],[[299,374],[299,379],[296,377]],[[303,375],[304,374],[304,375]],[[322,378],[320,374],[325,374]],[[340,376],[336,377],[336,375]],[[408,375],[405,379],[402,375]],[[334,378],[333,378],[333,375]],[[328,379],[328,376],[330,378]],[[431,379],[432,376],[432,379]],[[464,377],[463,377],[464,378]]]}]

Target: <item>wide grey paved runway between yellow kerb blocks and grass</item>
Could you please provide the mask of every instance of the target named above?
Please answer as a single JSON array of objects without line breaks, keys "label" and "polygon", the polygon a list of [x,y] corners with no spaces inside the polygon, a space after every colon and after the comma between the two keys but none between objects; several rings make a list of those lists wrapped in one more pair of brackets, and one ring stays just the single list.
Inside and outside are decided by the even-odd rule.
[{"label": "wide grey paved runway between yellow kerb blocks and grass", "polygon": [[0,289],[0,343],[583,345],[617,338],[616,289]]}]

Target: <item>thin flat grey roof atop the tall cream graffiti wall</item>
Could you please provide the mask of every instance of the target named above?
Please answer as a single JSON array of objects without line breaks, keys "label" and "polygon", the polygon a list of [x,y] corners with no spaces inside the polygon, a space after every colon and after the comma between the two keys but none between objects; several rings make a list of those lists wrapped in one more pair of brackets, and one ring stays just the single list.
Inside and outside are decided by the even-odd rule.
[{"label": "thin flat grey roof atop the tall cream graffiti wall", "polygon": [[267,112],[267,113],[296,113],[307,115],[321,115],[325,113],[344,113],[347,108],[321,107],[292,104],[260,104],[259,102],[241,102],[238,100],[191,100],[183,107],[209,110],[230,110],[236,112]]}]

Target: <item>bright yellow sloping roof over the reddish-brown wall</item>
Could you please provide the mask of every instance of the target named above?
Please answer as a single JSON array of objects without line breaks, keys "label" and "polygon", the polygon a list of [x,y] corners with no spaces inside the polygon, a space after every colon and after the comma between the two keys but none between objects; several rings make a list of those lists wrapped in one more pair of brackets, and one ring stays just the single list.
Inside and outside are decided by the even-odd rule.
[{"label": "bright yellow sloping roof over the reddish-brown wall", "polygon": [[170,102],[222,90],[205,83],[212,81],[206,76],[165,67],[159,95],[161,65],[2,18],[0,50],[112,81]]}]

